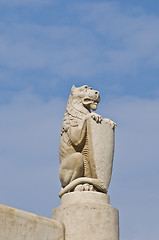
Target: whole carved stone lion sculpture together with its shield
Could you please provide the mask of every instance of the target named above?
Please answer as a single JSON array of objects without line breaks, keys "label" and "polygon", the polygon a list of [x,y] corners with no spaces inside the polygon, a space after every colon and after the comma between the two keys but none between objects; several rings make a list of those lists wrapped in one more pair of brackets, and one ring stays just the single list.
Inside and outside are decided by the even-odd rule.
[{"label": "whole carved stone lion sculpture together with its shield", "polygon": [[91,112],[97,109],[99,101],[99,92],[87,85],[71,89],[59,147],[60,197],[74,190],[107,193],[116,124]]}]

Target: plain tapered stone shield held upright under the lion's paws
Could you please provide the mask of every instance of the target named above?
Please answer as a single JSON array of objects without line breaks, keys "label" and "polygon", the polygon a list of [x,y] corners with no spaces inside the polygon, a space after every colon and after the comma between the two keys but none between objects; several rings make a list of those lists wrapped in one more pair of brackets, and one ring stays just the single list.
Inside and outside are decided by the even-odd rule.
[{"label": "plain tapered stone shield held upright under the lion's paws", "polygon": [[108,189],[113,167],[114,127],[109,119],[97,123],[91,117],[87,122],[88,159],[92,177],[99,179]]}]

